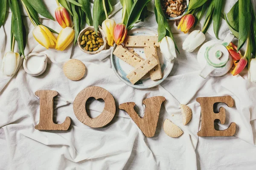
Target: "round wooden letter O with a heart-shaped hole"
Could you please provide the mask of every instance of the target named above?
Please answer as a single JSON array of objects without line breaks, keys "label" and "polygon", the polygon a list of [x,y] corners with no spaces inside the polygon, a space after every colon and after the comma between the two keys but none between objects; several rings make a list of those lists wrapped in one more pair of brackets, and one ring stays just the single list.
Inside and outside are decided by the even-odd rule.
[{"label": "round wooden letter O with a heart-shaped hole", "polygon": [[[85,109],[85,103],[90,97],[94,97],[96,100],[103,99],[105,101],[104,110],[94,119],[88,116]],[[111,122],[116,113],[116,105],[113,96],[107,90],[93,86],[85,88],[76,96],[73,104],[73,110],[80,122],[87,126],[96,128],[103,127]]]}]

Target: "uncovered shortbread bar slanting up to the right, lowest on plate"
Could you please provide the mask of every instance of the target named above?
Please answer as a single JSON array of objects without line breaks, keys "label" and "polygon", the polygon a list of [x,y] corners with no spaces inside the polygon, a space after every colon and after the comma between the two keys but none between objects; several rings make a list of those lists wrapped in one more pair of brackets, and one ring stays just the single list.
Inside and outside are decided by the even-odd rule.
[{"label": "uncovered shortbread bar slanting up to the right, lowest on plate", "polygon": [[130,80],[132,84],[135,84],[149,71],[151,71],[157,64],[157,59],[155,59],[153,56],[149,57],[148,59],[143,61],[139,67],[131,71],[131,73],[129,73],[126,77]]}]

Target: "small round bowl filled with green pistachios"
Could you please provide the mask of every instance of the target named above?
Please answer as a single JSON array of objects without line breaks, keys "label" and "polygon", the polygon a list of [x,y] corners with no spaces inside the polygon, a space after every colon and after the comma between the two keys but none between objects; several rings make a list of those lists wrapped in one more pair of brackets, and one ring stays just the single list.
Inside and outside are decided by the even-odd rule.
[{"label": "small round bowl filled with green pistachios", "polygon": [[106,49],[107,39],[101,28],[96,34],[93,26],[84,28],[77,38],[77,43],[81,51],[87,54],[97,54]]}]

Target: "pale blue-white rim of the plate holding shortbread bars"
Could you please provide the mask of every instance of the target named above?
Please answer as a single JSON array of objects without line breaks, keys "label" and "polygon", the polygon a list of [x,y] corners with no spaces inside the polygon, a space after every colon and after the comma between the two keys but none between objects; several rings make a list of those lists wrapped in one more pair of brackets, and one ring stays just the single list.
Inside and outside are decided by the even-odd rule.
[{"label": "pale blue-white rim of the plate holding shortbread bars", "polygon": [[[141,28],[148,29],[148,30],[151,30],[151,31],[155,31],[155,32],[157,33],[157,29],[155,29],[155,28],[150,28],[150,27],[143,27],[143,26],[134,27],[134,28],[132,28],[130,31],[132,31],[132,30],[134,30],[134,29],[141,29]],[[130,31],[128,31],[128,34],[129,34]],[[127,34],[127,35],[128,35],[128,34]],[[169,74],[170,74],[171,71],[172,71],[172,68],[173,68],[175,59],[173,59],[172,62],[170,62],[171,68],[170,68],[170,71],[169,71],[169,73],[167,74],[167,76],[166,76],[166,77],[163,77],[163,78],[160,79],[160,80],[158,80],[155,84],[152,84],[152,85],[145,85],[145,86],[133,85],[133,84],[131,84],[131,82],[129,83],[129,82],[127,82],[125,79],[123,79],[123,78],[118,74],[118,72],[116,71],[116,68],[115,68],[114,62],[113,62],[113,51],[116,49],[116,46],[117,46],[117,45],[115,44],[115,45],[113,46],[112,50],[111,50],[111,67],[112,67],[113,71],[115,72],[116,76],[117,76],[119,79],[121,79],[122,82],[124,82],[124,83],[125,83],[126,85],[128,85],[128,86],[131,86],[131,87],[136,88],[136,89],[154,88],[154,87],[156,87],[157,85],[160,85],[160,83],[162,83],[162,82],[169,76]]]}]

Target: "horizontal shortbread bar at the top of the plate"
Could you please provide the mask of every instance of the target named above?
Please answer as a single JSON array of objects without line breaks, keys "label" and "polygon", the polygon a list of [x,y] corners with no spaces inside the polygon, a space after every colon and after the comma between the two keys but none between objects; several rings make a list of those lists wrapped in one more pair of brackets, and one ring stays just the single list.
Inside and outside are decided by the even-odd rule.
[{"label": "horizontal shortbread bar at the top of the plate", "polygon": [[127,36],[125,38],[125,47],[147,47],[159,46],[157,36]]}]

